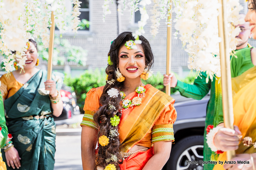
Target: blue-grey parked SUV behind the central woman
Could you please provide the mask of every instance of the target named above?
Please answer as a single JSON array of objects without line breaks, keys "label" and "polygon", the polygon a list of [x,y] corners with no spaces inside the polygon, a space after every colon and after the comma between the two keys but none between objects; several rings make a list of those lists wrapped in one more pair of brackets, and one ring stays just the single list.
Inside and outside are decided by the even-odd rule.
[{"label": "blue-grey parked SUV behind the central woman", "polygon": [[206,107],[210,99],[193,100],[181,95],[172,95],[177,120],[173,124],[175,144],[163,170],[203,170],[202,164],[187,164],[186,161],[203,160],[204,127]]}]

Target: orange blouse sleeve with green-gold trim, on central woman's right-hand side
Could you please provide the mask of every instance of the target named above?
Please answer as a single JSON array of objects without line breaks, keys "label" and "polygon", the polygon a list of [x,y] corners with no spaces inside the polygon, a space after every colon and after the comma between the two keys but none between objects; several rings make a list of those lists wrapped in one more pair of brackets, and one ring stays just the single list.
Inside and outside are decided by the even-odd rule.
[{"label": "orange blouse sleeve with green-gold trim, on central woman's right-hand side", "polygon": [[152,143],[160,141],[174,141],[173,123],[176,121],[177,112],[172,102],[161,113],[152,128]]}]

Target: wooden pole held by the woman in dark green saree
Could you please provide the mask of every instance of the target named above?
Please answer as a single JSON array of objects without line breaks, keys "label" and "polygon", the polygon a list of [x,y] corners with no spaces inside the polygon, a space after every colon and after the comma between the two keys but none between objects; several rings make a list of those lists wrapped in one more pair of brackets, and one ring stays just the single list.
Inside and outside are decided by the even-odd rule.
[{"label": "wooden pole held by the woman in dark green saree", "polygon": [[54,22],[54,14],[52,11],[51,14],[51,28],[50,28],[50,42],[49,42],[49,58],[48,58],[48,67],[47,67],[47,80],[52,79],[52,56],[53,56],[53,45],[54,45],[54,31],[55,31],[55,22]]}]

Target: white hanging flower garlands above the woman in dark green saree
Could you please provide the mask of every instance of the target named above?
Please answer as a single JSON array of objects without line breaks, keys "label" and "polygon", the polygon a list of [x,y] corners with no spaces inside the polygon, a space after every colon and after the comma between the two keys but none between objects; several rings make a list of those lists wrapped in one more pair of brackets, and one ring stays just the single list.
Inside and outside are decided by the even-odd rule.
[{"label": "white hanging flower garlands above the woman in dark green saree", "polygon": [[[27,42],[32,37],[41,38],[45,48],[49,47],[49,27],[51,23],[51,10],[56,11],[56,24],[60,33],[68,30],[70,22],[73,23],[73,31],[76,32],[80,22],[78,16],[79,0],[74,0],[74,8],[72,12],[73,19],[69,20],[70,15],[65,7],[64,0],[51,0],[41,2],[39,0],[1,0],[0,1],[0,53],[3,56],[4,69],[9,76],[13,71],[12,65],[14,55],[12,51],[19,52],[16,54],[17,64],[21,69],[27,60],[25,51],[27,50]],[[70,15],[71,16],[71,15]],[[4,55],[3,55],[4,54]]]}]

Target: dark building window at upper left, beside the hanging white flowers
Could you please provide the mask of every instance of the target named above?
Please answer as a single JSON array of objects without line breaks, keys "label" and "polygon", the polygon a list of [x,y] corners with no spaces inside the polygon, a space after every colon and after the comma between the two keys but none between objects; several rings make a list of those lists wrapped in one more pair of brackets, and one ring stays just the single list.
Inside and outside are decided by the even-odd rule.
[{"label": "dark building window at upper left, beside the hanging white flowers", "polygon": [[89,21],[90,21],[90,8],[89,8],[89,1],[90,0],[79,0],[81,9],[79,10],[81,12],[79,18],[81,20],[81,27],[79,30],[90,30]]}]

